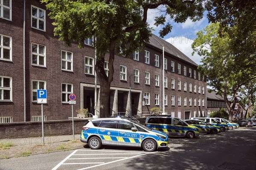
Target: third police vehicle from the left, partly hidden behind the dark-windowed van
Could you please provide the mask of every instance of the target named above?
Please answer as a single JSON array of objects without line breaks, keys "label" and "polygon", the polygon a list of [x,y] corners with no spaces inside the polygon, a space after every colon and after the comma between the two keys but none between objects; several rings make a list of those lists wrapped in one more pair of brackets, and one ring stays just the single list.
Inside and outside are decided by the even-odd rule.
[{"label": "third police vehicle from the left, partly hidden behind the dark-windowed van", "polygon": [[189,125],[198,127],[200,133],[218,134],[221,133],[221,129],[218,126],[204,122],[198,119],[186,119],[184,120]]}]

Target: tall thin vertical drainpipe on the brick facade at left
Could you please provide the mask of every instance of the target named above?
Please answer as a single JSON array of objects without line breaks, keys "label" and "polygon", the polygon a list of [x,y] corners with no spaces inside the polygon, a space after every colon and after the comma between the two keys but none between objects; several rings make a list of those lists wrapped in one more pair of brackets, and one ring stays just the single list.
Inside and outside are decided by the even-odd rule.
[{"label": "tall thin vertical drainpipe on the brick facade at left", "polygon": [[26,69],[25,69],[25,28],[26,28],[26,0],[24,0],[24,15],[23,15],[23,91],[24,91],[24,122],[26,122]]}]

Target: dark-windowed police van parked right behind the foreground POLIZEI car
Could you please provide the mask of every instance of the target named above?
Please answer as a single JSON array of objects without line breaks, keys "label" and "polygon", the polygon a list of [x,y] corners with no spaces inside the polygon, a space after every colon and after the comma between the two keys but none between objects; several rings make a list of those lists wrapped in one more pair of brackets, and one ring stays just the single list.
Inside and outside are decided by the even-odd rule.
[{"label": "dark-windowed police van parked right behind the foreground POLIZEI car", "polygon": [[180,135],[187,138],[199,136],[197,127],[189,125],[177,117],[150,116],[146,118],[145,126],[161,131],[166,135]]}]

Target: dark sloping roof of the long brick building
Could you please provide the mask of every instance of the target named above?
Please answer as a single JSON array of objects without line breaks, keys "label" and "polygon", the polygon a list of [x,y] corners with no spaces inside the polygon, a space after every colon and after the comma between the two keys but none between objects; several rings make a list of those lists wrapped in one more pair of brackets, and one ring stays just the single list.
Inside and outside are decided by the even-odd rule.
[{"label": "dark sloping roof of the long brick building", "polygon": [[195,65],[196,67],[198,67],[198,64],[196,64],[192,59],[190,59],[189,57],[187,57],[185,54],[183,54],[180,50],[178,50],[174,45],[172,45],[171,43],[163,40],[160,37],[157,37],[156,35],[152,34],[152,37],[149,38],[149,44],[159,48],[160,50],[163,50],[163,45],[164,45],[164,52],[169,53],[179,59],[182,59],[186,62],[189,62],[192,65]]}]

